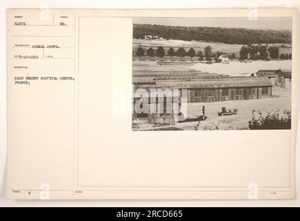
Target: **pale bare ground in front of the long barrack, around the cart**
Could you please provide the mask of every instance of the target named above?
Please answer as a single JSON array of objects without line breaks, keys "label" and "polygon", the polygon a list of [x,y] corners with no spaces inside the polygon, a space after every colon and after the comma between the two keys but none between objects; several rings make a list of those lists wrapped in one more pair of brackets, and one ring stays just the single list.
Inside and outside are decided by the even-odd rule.
[{"label": "pale bare ground in front of the long barrack, around the cart", "polygon": [[[267,112],[279,110],[290,111],[290,90],[282,88],[273,88],[273,97],[266,99],[240,100],[229,102],[214,102],[214,103],[193,103],[188,104],[188,117],[199,117],[202,115],[202,105],[205,106],[205,115],[207,119],[200,122],[198,130],[210,128],[211,130],[241,130],[249,129],[248,122],[252,116],[252,110],[261,111],[263,115]],[[238,109],[237,115],[218,116],[222,107],[228,109]],[[197,122],[185,122],[176,125],[184,130],[193,130]]]}]

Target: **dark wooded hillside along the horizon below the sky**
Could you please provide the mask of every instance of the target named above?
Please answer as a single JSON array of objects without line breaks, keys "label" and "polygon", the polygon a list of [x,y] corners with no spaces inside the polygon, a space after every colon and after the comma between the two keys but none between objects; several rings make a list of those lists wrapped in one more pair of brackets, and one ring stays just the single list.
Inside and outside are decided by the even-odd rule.
[{"label": "dark wooded hillside along the horizon below the sky", "polygon": [[161,26],[134,23],[133,38],[144,39],[145,35],[157,35],[167,40],[195,40],[222,42],[226,44],[290,44],[292,42],[291,32],[288,30],[250,30],[247,28]]}]

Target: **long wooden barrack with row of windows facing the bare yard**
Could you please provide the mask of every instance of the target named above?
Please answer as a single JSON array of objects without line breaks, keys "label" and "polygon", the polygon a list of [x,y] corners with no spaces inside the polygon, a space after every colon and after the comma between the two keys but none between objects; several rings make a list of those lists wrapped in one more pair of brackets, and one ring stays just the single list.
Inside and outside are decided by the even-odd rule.
[{"label": "long wooden barrack with row of windows facing the bare yard", "polygon": [[233,77],[199,73],[140,73],[133,76],[134,88],[187,89],[188,103],[262,99],[272,96],[272,82],[267,77]]}]

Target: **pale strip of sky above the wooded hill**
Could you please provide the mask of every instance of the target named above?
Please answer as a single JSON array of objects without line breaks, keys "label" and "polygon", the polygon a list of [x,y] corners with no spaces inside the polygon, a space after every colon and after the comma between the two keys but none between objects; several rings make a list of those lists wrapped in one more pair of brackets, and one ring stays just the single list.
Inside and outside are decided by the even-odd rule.
[{"label": "pale strip of sky above the wooded hill", "polygon": [[134,18],[133,23],[148,23],[165,26],[206,26],[220,28],[249,28],[292,30],[291,17],[258,17],[257,20],[244,18]]}]

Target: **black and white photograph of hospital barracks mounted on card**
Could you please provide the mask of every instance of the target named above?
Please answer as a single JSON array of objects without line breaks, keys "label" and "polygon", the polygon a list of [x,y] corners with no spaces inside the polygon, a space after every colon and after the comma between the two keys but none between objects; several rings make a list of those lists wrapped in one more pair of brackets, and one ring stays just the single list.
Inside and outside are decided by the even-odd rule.
[{"label": "black and white photograph of hospital barracks mounted on card", "polygon": [[292,18],[134,18],[132,131],[291,128]]}]

